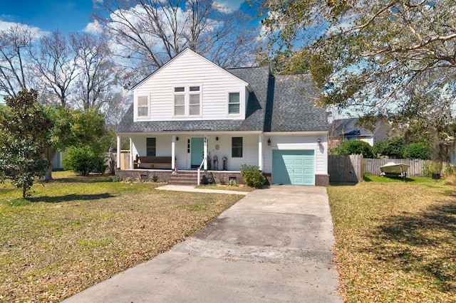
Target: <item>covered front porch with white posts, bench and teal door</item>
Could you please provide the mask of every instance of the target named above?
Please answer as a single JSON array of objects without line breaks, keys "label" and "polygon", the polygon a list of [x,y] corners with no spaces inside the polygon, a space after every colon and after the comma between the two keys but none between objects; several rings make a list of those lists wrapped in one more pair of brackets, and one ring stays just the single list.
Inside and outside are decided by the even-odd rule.
[{"label": "covered front porch with white posts, bench and teal door", "polygon": [[264,166],[261,133],[118,134],[118,146],[121,137],[129,138],[130,149],[128,159],[118,149],[118,170],[239,171],[242,164],[260,170]]}]

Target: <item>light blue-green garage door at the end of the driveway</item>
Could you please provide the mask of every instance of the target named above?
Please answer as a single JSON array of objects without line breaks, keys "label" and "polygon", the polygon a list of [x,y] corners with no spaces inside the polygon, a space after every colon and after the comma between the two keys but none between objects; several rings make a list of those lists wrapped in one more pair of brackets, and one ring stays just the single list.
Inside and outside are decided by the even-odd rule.
[{"label": "light blue-green garage door at the end of the driveway", "polygon": [[272,183],[315,185],[313,150],[273,150]]}]

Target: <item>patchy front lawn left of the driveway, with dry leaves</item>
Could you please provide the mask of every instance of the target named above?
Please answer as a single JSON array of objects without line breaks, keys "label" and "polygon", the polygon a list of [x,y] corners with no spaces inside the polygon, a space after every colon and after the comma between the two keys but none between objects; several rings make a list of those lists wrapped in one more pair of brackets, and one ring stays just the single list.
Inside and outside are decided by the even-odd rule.
[{"label": "patchy front lawn left of the driveway, with dry leaves", "polygon": [[53,176],[31,201],[0,185],[0,302],[61,302],[169,250],[242,198]]}]

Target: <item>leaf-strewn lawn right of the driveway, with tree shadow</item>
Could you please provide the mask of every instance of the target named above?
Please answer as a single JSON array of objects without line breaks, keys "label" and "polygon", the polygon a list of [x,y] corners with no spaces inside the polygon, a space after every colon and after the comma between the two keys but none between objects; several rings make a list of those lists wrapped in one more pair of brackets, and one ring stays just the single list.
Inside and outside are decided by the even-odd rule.
[{"label": "leaf-strewn lawn right of the driveway, with tree shadow", "polygon": [[366,176],[328,195],[349,302],[456,302],[452,180]]}]

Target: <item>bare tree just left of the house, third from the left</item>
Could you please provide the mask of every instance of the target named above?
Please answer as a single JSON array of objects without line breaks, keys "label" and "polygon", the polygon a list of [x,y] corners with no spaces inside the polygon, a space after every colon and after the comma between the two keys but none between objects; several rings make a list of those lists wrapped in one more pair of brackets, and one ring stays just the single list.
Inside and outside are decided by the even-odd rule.
[{"label": "bare tree just left of the house, third from the left", "polygon": [[102,102],[109,102],[103,95],[117,80],[108,41],[103,35],[91,33],[70,33],[70,40],[81,71],[76,88],[78,100],[86,109],[100,107]]}]

